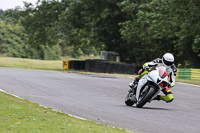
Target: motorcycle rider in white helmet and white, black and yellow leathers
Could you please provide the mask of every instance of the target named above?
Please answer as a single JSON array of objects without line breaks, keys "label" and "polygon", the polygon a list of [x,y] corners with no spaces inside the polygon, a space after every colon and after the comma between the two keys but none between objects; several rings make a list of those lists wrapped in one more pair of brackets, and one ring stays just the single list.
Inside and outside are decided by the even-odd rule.
[{"label": "motorcycle rider in white helmet and white, black and yellow leathers", "polygon": [[[172,102],[174,99],[173,93],[169,88],[172,88],[175,85],[175,79],[176,79],[176,66],[174,65],[174,56],[171,53],[166,53],[163,55],[162,59],[157,58],[151,62],[147,62],[143,65],[143,68],[139,70],[137,77],[129,84],[129,86],[132,89],[135,84],[138,83],[138,81],[141,79],[142,76],[145,74],[148,74],[148,70],[155,66],[165,66],[167,68],[167,71],[169,73],[169,85],[168,87],[162,89],[162,92],[165,94],[165,96],[158,95],[154,100],[163,100],[166,102]],[[134,91],[135,92],[135,91]]]}]

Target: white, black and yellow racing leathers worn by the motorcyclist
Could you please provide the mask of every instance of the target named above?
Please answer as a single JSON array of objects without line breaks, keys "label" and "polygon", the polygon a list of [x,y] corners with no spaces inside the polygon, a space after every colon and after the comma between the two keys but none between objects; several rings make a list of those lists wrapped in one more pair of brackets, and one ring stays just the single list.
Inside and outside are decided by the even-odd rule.
[{"label": "white, black and yellow racing leathers worn by the motorcyclist", "polygon": [[[139,70],[138,76],[136,77],[136,80],[139,80],[142,76],[145,74],[148,74],[147,69],[151,68],[153,66],[164,66],[162,59],[157,58],[151,62],[147,62],[143,65],[143,68]],[[162,92],[165,94],[165,96],[158,95],[157,100],[163,100],[166,102],[172,102],[174,99],[173,93],[169,88],[172,88],[175,85],[175,79],[176,79],[176,72],[177,68],[173,64],[172,66],[167,68],[167,73],[169,74],[169,82],[170,85],[162,90]]]}]

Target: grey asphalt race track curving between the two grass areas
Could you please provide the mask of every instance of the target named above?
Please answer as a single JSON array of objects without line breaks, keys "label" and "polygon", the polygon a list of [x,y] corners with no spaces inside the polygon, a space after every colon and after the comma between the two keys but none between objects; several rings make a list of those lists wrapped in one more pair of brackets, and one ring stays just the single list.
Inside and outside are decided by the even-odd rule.
[{"label": "grey asphalt race track curving between the two grass areas", "polygon": [[124,104],[130,78],[0,69],[0,89],[67,114],[137,133],[199,133],[200,87],[177,83],[172,103]]}]

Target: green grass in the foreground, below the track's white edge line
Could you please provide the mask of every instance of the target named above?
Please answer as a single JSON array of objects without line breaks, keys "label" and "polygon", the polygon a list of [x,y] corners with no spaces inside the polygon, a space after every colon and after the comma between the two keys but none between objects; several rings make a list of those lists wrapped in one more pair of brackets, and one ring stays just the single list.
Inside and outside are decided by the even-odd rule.
[{"label": "green grass in the foreground, below the track's white edge line", "polygon": [[128,131],[80,120],[0,92],[2,133],[127,133]]}]

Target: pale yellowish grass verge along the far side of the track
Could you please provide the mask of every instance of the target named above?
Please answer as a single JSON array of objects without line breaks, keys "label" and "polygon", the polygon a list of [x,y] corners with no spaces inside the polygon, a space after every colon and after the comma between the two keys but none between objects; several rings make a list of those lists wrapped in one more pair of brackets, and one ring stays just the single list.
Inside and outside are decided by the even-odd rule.
[{"label": "pale yellowish grass verge along the far side of the track", "polygon": [[[71,59],[73,58],[70,57],[63,58],[63,60],[71,60]],[[84,57],[82,57],[81,59],[84,59]],[[49,61],[49,60],[22,59],[13,57],[0,57],[0,67],[63,71],[62,66],[63,66],[62,60]],[[80,71],[67,70],[66,72],[80,72]],[[92,72],[81,72],[81,73],[94,74]],[[126,74],[107,74],[107,75],[135,77],[135,75],[126,75]],[[200,80],[177,79],[176,81],[182,83],[200,85]]]}]

